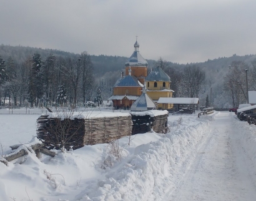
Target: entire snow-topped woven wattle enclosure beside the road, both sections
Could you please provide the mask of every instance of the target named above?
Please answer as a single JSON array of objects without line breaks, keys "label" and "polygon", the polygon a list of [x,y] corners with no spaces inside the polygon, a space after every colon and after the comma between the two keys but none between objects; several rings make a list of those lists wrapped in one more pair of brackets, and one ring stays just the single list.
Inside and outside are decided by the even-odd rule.
[{"label": "entire snow-topped woven wattle enclosure beside the road, both sections", "polygon": [[74,112],[50,113],[37,119],[37,137],[47,149],[78,149],[84,145],[108,143],[131,134],[153,129],[164,132],[167,127],[167,110],[147,112]]}]

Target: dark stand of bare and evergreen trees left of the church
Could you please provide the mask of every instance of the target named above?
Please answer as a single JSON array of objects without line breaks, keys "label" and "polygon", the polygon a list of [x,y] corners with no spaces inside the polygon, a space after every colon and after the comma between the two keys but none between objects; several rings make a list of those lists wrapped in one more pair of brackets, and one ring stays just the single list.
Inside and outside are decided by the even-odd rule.
[{"label": "dark stand of bare and evergreen trees left of the church", "polygon": [[[39,53],[18,63],[9,56],[0,57],[1,102],[13,105],[53,105],[91,101],[93,66],[89,54],[67,57]],[[9,100],[9,101],[8,101]]]}]

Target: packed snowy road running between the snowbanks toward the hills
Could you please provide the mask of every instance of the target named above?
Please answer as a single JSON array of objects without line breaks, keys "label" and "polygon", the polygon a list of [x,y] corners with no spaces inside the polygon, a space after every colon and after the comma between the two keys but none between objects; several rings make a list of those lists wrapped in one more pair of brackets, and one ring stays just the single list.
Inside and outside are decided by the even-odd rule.
[{"label": "packed snowy road running between the snowbanks toward the hills", "polygon": [[169,200],[256,200],[256,174],[230,112],[210,122],[194,163]]}]

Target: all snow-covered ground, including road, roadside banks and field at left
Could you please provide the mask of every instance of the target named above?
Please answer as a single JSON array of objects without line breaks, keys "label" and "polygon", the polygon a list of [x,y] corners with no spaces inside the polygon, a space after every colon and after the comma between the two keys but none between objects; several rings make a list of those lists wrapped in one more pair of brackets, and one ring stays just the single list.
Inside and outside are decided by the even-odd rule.
[{"label": "all snow-covered ground, including road, roadside banks and field at left", "polygon": [[[0,114],[0,155],[36,135],[38,116]],[[255,200],[255,125],[232,112],[169,121],[168,134],[120,139],[120,161],[98,144],[0,162],[0,200]]]}]

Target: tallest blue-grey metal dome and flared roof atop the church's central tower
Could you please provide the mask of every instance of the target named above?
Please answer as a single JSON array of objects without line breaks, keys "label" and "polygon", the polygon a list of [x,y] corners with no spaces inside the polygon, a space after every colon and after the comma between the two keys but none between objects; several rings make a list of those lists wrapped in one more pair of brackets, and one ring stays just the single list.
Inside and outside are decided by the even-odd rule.
[{"label": "tallest blue-grey metal dome and flared roof atop the church's central tower", "polygon": [[147,67],[147,61],[139,53],[139,42],[134,43],[134,53],[127,59],[125,66],[144,66]]}]

